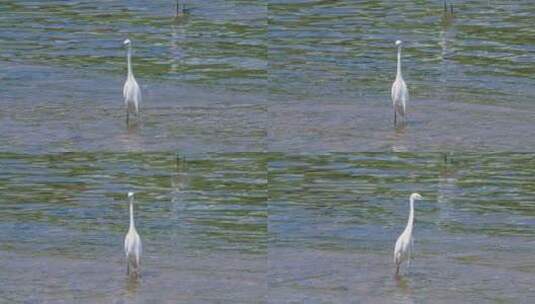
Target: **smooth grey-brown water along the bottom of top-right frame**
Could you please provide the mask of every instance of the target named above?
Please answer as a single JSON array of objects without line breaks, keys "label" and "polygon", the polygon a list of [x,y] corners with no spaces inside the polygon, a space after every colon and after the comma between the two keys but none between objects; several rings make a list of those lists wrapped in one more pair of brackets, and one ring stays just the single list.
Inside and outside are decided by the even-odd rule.
[{"label": "smooth grey-brown water along the bottom of top-right frame", "polygon": [[533,111],[509,106],[410,100],[396,133],[389,96],[354,101],[285,102],[268,108],[269,151],[532,151]]}]

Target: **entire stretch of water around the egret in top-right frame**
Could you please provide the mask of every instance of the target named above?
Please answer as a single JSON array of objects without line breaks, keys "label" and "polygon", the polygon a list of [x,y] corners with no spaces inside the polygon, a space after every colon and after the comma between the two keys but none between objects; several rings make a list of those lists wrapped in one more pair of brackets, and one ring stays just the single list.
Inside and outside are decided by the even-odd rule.
[{"label": "entire stretch of water around the egret in top-right frame", "polygon": [[[533,151],[531,1],[269,4],[270,151]],[[409,125],[393,128],[394,41]],[[288,97],[289,96],[289,97]]]}]

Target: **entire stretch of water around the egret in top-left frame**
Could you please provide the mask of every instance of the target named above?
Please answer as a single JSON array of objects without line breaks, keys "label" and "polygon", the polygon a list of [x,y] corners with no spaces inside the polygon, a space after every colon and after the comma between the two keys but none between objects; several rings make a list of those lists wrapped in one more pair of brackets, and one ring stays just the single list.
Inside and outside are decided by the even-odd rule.
[{"label": "entire stretch of water around the egret in top-left frame", "polygon": [[[186,8],[175,18],[175,1],[0,3],[0,150],[264,151],[266,6]],[[131,130],[126,37],[143,92]]]}]

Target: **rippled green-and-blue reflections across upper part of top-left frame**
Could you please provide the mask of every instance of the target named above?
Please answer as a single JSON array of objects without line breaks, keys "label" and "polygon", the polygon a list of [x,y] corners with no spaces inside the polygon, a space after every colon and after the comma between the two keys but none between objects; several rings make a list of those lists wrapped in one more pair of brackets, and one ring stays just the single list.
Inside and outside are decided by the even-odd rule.
[{"label": "rippled green-and-blue reflections across upper part of top-left frame", "polygon": [[176,17],[175,1],[2,1],[0,60],[117,75],[125,69],[119,42],[129,36],[138,79],[263,89],[265,2],[192,1],[186,7]]}]

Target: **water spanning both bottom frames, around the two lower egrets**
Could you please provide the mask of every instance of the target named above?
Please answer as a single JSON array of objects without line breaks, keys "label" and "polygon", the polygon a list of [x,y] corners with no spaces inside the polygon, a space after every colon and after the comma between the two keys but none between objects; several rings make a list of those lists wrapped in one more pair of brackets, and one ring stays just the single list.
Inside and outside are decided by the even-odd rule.
[{"label": "water spanning both bottom frames, around the two lower egrets", "polygon": [[[0,166],[0,295],[12,302],[535,296],[532,154],[4,153]],[[138,282],[124,274],[130,190]],[[396,280],[415,191],[413,260]]]}]

